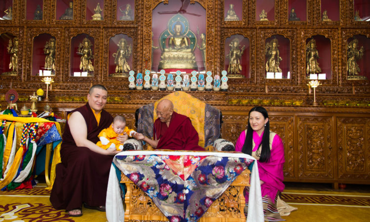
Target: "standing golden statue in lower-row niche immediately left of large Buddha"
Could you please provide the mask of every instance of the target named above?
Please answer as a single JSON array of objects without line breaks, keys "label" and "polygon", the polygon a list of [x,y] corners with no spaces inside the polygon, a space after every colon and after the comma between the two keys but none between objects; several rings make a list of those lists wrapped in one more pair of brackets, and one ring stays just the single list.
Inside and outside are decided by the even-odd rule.
[{"label": "standing golden statue in lower-row niche immediately left of large Buddha", "polygon": [[131,45],[127,44],[127,41],[124,38],[119,39],[117,46],[117,52],[112,54],[114,57],[114,64],[116,65],[115,74],[113,75],[128,76],[127,73],[131,68],[127,63],[127,59],[130,58],[132,54],[132,47]]}]

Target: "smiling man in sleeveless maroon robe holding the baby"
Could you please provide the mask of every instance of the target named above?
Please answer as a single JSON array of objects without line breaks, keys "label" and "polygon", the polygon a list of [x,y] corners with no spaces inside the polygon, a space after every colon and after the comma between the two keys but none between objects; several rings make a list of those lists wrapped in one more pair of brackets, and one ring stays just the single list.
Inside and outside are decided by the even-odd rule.
[{"label": "smiling man in sleeveless maroon robe holding the baby", "polygon": [[[88,103],[71,111],[63,133],[60,150],[62,162],[56,166],[56,177],[50,194],[55,209],[66,209],[72,217],[82,215],[84,207],[105,211],[109,172],[118,151],[96,146],[98,134],[109,127],[112,116],[103,110],[107,89],[91,87]],[[117,138],[121,142],[127,135]]]}]

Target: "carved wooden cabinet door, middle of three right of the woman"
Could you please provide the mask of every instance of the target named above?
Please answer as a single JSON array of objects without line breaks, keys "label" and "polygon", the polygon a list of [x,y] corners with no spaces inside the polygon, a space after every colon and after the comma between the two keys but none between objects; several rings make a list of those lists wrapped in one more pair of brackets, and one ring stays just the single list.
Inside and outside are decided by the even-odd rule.
[{"label": "carved wooden cabinet door, middle of three right of the woman", "polygon": [[297,119],[298,178],[333,179],[332,117]]}]

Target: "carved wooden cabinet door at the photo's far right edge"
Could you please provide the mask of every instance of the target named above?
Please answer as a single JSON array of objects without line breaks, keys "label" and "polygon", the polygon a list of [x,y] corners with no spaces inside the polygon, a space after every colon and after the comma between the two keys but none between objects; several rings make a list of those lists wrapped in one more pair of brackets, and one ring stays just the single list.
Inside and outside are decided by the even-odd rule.
[{"label": "carved wooden cabinet door at the photo's far right edge", "polygon": [[370,180],[370,118],[337,118],[338,178]]}]

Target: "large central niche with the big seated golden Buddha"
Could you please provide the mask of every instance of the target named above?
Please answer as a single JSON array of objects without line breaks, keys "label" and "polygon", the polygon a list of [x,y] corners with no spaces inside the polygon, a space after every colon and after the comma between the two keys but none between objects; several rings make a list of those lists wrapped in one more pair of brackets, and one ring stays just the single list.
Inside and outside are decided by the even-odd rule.
[{"label": "large central niche with the big seated golden Buddha", "polygon": [[[182,13],[178,13],[180,9]],[[161,2],[152,10],[152,61],[144,61],[145,69],[204,71],[206,39],[206,10],[202,5],[195,2],[185,6],[182,0]]]}]

